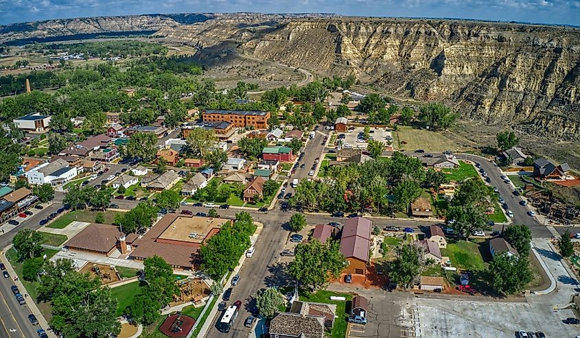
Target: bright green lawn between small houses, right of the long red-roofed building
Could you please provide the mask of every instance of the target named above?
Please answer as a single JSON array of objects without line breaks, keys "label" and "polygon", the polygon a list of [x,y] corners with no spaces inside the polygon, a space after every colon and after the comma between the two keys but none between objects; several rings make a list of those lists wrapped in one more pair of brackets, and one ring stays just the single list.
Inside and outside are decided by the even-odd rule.
[{"label": "bright green lawn between small houses, right of the long red-roofed building", "polygon": [[448,241],[447,248],[441,249],[443,256],[448,256],[452,265],[459,269],[483,270],[487,263],[482,253],[489,253],[486,241]]}]

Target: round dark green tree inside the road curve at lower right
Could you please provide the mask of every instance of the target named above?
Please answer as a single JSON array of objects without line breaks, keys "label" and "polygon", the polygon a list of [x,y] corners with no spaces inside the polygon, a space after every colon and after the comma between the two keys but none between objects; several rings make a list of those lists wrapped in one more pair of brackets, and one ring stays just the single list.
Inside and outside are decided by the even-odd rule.
[{"label": "round dark green tree inside the road curve at lower right", "polygon": [[521,291],[532,279],[528,259],[507,252],[496,254],[487,272],[491,276],[491,286],[502,295]]}]

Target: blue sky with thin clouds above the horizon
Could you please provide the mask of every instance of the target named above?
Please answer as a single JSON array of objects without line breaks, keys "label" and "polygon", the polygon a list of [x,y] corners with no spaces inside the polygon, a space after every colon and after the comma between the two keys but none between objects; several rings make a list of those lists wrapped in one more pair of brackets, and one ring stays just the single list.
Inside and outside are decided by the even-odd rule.
[{"label": "blue sky with thin clouds above the horizon", "polygon": [[183,12],[326,12],[580,25],[580,0],[0,0],[0,24]]}]

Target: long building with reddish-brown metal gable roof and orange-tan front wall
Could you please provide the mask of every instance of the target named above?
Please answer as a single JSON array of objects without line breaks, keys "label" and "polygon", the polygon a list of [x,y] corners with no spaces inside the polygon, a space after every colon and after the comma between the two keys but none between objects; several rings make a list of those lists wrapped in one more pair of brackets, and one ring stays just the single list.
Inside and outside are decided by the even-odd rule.
[{"label": "long building with reddish-brown metal gable roof and orange-tan front wall", "polygon": [[347,219],[340,237],[340,252],[349,265],[345,274],[367,275],[369,251],[371,249],[372,222],[362,217]]}]

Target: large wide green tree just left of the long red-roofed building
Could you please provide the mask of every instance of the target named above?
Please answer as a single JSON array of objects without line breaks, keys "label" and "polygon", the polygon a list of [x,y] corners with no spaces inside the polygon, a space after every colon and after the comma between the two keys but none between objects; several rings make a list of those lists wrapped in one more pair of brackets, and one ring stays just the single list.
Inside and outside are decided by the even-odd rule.
[{"label": "large wide green tree just left of the long red-roofed building", "polygon": [[288,264],[287,271],[301,285],[320,289],[327,285],[329,277],[338,278],[346,265],[338,242],[323,244],[314,239],[297,245],[294,261]]}]

